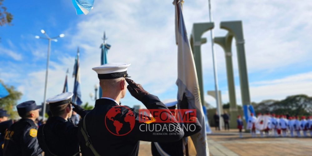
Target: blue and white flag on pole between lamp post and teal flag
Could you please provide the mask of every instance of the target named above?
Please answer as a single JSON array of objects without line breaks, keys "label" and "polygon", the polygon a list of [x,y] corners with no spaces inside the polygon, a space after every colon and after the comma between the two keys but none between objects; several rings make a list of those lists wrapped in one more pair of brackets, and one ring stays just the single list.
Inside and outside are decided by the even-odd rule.
[{"label": "blue and white flag on pole between lamp post and teal flag", "polygon": [[74,72],[73,72],[73,77],[75,77],[75,82],[74,82],[74,95],[72,97],[73,103],[76,103],[77,105],[81,105],[81,92],[80,92],[80,67],[79,67],[79,47],[77,50],[77,56],[75,59],[75,65],[74,65]]}]

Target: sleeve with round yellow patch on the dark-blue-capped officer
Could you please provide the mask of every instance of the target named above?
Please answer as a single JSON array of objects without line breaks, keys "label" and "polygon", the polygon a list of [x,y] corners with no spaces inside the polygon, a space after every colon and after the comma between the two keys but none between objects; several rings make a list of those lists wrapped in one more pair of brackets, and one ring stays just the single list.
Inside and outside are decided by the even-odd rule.
[{"label": "sleeve with round yellow patch on the dark-blue-capped officer", "polygon": [[37,127],[29,127],[25,129],[21,139],[22,153],[30,156],[37,156],[42,153],[37,140]]}]

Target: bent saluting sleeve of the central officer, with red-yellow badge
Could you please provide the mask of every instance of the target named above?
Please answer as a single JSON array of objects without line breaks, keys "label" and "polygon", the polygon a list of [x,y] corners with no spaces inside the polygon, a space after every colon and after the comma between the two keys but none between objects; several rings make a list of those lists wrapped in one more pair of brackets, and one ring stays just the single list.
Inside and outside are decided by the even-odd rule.
[{"label": "bent saluting sleeve of the central officer, with red-yellow badge", "polygon": [[[173,142],[182,139],[184,132],[178,121],[171,114],[168,108],[155,95],[145,95],[141,101],[147,109],[161,109],[163,114],[168,115],[170,122],[142,122],[142,118],[153,120],[149,116],[135,113],[135,124],[132,131],[126,135],[131,140],[142,140],[150,142]],[[129,110],[124,110],[123,115],[126,115]]]}]

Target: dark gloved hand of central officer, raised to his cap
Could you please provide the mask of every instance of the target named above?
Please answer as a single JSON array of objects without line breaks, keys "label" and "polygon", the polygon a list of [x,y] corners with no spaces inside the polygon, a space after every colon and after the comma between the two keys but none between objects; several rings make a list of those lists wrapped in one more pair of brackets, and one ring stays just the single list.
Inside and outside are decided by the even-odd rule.
[{"label": "dark gloved hand of central officer, raised to his cap", "polygon": [[139,101],[141,101],[145,95],[149,94],[149,92],[143,89],[142,85],[136,84],[133,80],[128,78],[126,78],[126,81],[129,84],[127,88],[130,94]]}]

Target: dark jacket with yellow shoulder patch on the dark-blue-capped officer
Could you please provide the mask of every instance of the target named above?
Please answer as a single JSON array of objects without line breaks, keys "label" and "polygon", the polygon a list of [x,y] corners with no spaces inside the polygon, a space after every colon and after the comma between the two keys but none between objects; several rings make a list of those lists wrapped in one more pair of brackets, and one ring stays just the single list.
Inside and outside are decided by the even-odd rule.
[{"label": "dark jacket with yellow shoulder patch on the dark-blue-capped officer", "polygon": [[42,149],[37,140],[38,126],[32,119],[22,118],[7,130],[4,137],[3,155],[37,156]]}]

